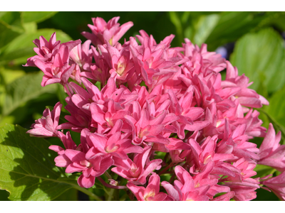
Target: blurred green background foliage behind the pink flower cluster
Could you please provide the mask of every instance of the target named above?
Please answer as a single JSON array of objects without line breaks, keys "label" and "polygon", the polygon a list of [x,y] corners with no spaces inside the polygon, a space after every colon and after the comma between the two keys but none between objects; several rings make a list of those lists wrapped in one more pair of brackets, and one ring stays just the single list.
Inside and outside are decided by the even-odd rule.
[{"label": "blurred green background foliage behind the pink flower cluster", "polygon": [[[49,39],[56,32],[61,42],[84,42],[86,38],[81,32],[90,32],[92,17],[108,21],[114,16],[120,16],[121,24],[134,23],[120,42],[143,29],[157,43],[175,34],[172,47],[181,46],[184,38],[197,45],[207,43],[209,51],[235,43],[229,60],[237,66],[239,75],[244,73],[249,82],[254,81],[250,88],[270,102],[259,109],[264,126],[268,128],[271,122],[285,136],[285,49],[281,36],[285,31],[285,12],[0,12],[0,126],[9,123],[29,128],[46,106],[54,106],[65,98],[61,87],[41,87],[43,74],[38,68],[22,67],[27,58],[35,55],[34,39],[40,35]],[[259,138],[254,142],[261,143]],[[259,167],[257,172],[266,175],[273,171]],[[273,193],[266,197],[264,190],[257,194],[259,200],[278,200]],[[0,190],[0,200],[6,197],[7,193]],[[58,197],[76,199],[74,190]]]}]

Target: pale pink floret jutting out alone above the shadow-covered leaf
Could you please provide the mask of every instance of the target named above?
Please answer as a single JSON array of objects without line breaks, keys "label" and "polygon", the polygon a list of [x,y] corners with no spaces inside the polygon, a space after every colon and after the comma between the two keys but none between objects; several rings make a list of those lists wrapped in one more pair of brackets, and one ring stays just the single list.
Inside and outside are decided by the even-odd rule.
[{"label": "pale pink floret jutting out alone above the shadow-covered leaf", "polygon": [[31,136],[36,137],[56,137],[58,136],[58,121],[61,115],[62,104],[60,102],[56,103],[53,110],[45,109],[43,111],[43,116],[41,119],[36,120],[36,123],[31,126],[31,128],[26,133]]}]

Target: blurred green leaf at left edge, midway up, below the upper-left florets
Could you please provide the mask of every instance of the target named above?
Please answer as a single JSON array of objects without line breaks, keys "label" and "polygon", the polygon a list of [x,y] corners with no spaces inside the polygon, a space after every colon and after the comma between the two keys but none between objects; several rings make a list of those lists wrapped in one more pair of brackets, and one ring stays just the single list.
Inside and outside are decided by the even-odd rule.
[{"label": "blurred green leaf at left edge, midway up, below the upper-left florets", "polygon": [[41,87],[43,73],[27,74],[6,85],[5,102],[2,109],[4,116],[21,107],[22,104],[44,93],[55,93],[56,85]]}]

